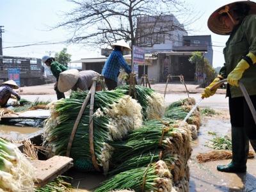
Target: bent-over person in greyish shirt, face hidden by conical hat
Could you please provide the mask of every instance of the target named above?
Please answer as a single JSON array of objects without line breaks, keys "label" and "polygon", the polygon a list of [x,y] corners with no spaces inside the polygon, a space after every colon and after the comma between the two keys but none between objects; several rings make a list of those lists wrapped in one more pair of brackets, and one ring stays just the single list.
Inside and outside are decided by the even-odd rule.
[{"label": "bent-over person in greyish shirt, face hidden by conical hat", "polygon": [[[61,72],[58,81],[58,90],[60,92],[67,92],[68,90],[90,90],[93,79],[99,77],[100,74],[94,70],[82,70],[77,69],[66,70]],[[96,84],[96,91],[102,90],[100,83]]]}]

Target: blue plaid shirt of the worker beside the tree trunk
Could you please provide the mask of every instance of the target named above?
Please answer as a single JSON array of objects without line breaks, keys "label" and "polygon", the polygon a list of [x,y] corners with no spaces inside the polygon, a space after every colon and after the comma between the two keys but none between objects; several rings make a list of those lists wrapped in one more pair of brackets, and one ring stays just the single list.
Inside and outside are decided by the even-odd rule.
[{"label": "blue plaid shirt of the worker beside the tree trunk", "polygon": [[108,60],[105,62],[105,65],[102,69],[102,75],[113,81],[118,81],[117,76],[119,74],[120,67],[124,68],[127,74],[131,73],[131,68],[127,65],[121,51],[114,50],[108,57]]}]

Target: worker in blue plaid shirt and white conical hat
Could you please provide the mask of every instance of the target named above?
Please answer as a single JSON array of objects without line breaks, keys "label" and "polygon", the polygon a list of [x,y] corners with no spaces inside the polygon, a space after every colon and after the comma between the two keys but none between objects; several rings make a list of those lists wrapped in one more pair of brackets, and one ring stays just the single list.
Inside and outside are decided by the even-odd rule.
[{"label": "worker in blue plaid shirt and white conical hat", "polygon": [[123,57],[124,49],[131,50],[131,47],[124,40],[118,41],[111,46],[114,50],[109,55],[108,60],[105,62],[102,69],[102,75],[104,76],[104,81],[108,87],[108,90],[113,90],[116,88],[120,67],[124,68],[127,74],[130,74],[132,71]]}]

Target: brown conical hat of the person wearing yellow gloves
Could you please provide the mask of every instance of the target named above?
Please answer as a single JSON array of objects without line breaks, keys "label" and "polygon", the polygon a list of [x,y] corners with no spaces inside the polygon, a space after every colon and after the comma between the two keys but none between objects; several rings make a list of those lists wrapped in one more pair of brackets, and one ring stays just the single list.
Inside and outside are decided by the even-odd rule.
[{"label": "brown conical hat of the person wearing yellow gloves", "polygon": [[236,1],[234,3],[229,3],[229,4],[225,4],[224,6],[221,6],[220,8],[218,8],[218,10],[216,10],[215,12],[213,12],[211,14],[211,16],[208,19],[207,25],[208,28],[213,32],[216,33],[218,35],[230,35],[231,31],[229,28],[227,28],[225,26],[225,24],[223,24],[220,21],[220,10],[225,9],[225,6],[231,6],[232,4],[236,4],[236,3],[244,3],[244,4],[248,4],[250,6],[250,12],[248,13],[248,15],[252,15],[256,13],[256,3],[252,2],[252,1]]}]

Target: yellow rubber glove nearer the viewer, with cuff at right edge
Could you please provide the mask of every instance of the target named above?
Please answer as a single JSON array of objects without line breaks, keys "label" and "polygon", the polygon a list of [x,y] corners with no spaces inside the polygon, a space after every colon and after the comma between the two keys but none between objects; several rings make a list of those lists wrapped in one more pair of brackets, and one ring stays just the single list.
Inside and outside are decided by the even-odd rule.
[{"label": "yellow rubber glove nearer the viewer, with cuff at right edge", "polygon": [[[256,56],[252,52],[249,52],[246,56],[248,56],[253,63],[256,63]],[[239,61],[239,63],[232,70],[232,72],[228,74],[228,84],[232,86],[239,86],[238,81],[243,77],[244,71],[249,67],[250,65],[247,63],[246,60],[242,59],[241,61]]]}]

